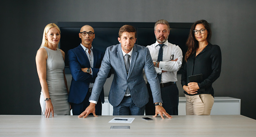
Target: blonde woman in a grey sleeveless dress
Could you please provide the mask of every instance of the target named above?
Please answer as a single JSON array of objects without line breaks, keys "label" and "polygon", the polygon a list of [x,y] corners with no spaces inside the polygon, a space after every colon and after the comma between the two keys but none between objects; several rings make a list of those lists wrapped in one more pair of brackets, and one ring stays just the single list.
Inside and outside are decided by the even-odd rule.
[{"label": "blonde woman in a grey sleeveless dress", "polygon": [[40,105],[42,115],[70,115],[68,86],[65,77],[65,53],[58,49],[61,39],[60,28],[48,24],[43,33],[40,49],[37,51],[37,73],[42,87]]}]

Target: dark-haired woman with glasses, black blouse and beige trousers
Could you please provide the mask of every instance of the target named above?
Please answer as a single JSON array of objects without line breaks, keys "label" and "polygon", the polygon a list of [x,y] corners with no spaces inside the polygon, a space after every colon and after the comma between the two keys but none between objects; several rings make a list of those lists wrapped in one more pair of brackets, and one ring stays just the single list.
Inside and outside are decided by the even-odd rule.
[{"label": "dark-haired woman with glasses, black blouse and beige trousers", "polygon": [[[214,103],[212,84],[221,71],[221,50],[209,43],[211,29],[205,20],[195,22],[186,41],[188,50],[182,71],[186,96],[186,115],[210,115]],[[203,79],[190,82],[189,76],[202,74]]]}]

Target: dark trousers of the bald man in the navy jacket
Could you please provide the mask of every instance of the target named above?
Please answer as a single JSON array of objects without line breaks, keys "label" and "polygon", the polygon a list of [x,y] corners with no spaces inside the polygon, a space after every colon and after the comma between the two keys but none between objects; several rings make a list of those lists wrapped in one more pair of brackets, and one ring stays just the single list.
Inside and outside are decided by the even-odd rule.
[{"label": "dark trousers of the bald man in the navy jacket", "polygon": [[[84,101],[80,104],[74,104],[74,103],[70,103],[71,107],[72,107],[72,113],[73,115],[80,115],[82,112],[84,112],[84,110],[90,105],[89,102],[89,98],[91,96],[91,92],[87,92]],[[101,99],[99,97],[98,102],[95,106],[95,114],[96,115],[102,115],[102,102]],[[93,115],[93,113],[89,114],[89,115]]]}]

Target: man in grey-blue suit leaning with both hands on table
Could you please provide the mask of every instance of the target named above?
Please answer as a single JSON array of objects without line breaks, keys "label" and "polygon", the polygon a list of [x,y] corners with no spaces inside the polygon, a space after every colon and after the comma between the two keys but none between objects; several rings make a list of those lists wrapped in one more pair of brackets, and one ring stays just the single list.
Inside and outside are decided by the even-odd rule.
[{"label": "man in grey-blue suit leaning with both hands on table", "polygon": [[163,115],[172,118],[162,107],[159,81],[149,49],[135,44],[136,29],[130,25],[122,26],[118,41],[120,44],[106,49],[89,98],[90,105],[79,117],[86,118],[90,113],[97,116],[96,101],[111,69],[114,72],[114,78],[108,100],[113,106],[113,115],[144,115],[145,105],[149,102],[149,93],[142,74],[144,68],[154,98],[154,117],[159,114],[162,119],[164,119]]}]

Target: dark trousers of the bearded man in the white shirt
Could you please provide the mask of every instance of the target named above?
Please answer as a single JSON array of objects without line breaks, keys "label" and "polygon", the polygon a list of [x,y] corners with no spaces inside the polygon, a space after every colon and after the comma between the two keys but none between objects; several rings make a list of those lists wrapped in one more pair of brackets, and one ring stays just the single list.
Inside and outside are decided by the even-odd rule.
[{"label": "dark trousers of the bearded man in the white shirt", "polygon": [[[149,91],[149,102],[146,104],[145,114],[155,115],[155,106],[149,83],[147,84],[147,88]],[[178,115],[179,90],[177,84],[161,88],[161,96],[163,100],[163,108],[166,112],[169,115]]]}]

